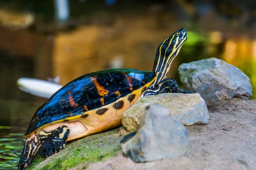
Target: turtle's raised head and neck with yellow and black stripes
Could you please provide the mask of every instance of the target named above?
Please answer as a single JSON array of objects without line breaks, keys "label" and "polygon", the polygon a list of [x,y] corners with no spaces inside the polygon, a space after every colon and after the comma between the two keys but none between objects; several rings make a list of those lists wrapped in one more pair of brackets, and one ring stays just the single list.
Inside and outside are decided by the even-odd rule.
[{"label": "turtle's raised head and neck with yellow and black stripes", "polygon": [[179,54],[180,48],[187,40],[186,29],[181,28],[174,32],[170,37],[160,43],[154,61],[153,71],[156,72],[157,79],[154,85],[166,78],[173,59]]}]

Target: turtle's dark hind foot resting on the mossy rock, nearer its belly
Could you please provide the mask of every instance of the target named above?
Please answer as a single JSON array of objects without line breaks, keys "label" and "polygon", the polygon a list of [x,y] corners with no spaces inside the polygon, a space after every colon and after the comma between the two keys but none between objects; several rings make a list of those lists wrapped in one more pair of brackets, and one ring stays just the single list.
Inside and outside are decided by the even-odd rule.
[{"label": "turtle's dark hind foot resting on the mossy rock, nearer its belly", "polygon": [[43,158],[47,158],[54,153],[58,153],[61,149],[64,149],[67,137],[70,133],[67,126],[60,126],[53,131],[54,133],[52,133],[40,147],[39,153]]}]

